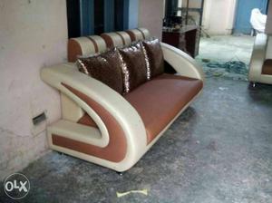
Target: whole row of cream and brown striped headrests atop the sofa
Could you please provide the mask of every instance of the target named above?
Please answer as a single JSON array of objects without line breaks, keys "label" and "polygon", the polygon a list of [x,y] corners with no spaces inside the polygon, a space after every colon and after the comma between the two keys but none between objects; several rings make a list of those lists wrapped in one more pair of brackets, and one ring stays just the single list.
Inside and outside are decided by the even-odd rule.
[{"label": "whole row of cream and brown striped headrests atop the sofa", "polygon": [[113,46],[121,47],[151,36],[146,28],[71,38],[68,41],[68,62],[75,62],[79,55],[101,53]]}]

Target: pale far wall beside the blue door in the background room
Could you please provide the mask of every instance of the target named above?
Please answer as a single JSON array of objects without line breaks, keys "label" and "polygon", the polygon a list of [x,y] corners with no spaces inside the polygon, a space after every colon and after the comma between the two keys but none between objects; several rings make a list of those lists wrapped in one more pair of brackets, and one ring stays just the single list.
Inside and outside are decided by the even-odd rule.
[{"label": "pale far wall beside the blue door in the background room", "polygon": [[202,25],[208,34],[231,34],[237,0],[205,0]]}]

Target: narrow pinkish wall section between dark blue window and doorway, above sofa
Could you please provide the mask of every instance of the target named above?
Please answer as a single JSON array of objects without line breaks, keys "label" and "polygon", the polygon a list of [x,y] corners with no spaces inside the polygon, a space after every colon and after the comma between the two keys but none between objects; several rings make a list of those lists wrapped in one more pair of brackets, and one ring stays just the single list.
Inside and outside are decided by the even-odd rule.
[{"label": "narrow pinkish wall section between dark blue window and doorway, above sofa", "polygon": [[139,27],[149,29],[152,36],[161,39],[163,0],[139,0]]}]

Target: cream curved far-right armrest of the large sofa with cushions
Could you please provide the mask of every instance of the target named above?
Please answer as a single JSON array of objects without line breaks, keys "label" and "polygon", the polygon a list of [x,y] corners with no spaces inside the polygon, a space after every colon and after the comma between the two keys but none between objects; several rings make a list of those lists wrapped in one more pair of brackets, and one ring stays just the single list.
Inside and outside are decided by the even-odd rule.
[{"label": "cream curved far-right armrest of the large sofa with cushions", "polygon": [[201,66],[180,49],[167,43],[160,43],[164,60],[176,70],[177,73],[189,78],[196,78],[204,82],[205,75]]}]

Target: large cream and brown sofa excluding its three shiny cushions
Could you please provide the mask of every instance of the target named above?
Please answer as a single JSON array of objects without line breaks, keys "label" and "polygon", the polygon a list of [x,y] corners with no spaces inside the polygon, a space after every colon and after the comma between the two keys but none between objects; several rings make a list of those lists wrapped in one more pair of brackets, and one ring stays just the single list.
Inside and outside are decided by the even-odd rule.
[{"label": "large cream and brown sofa excluding its three shiny cushions", "polygon": [[70,63],[41,77],[61,93],[62,119],[47,128],[49,146],[116,171],[130,169],[202,91],[201,67],[187,53],[160,43],[177,74],[162,73],[124,95],[78,71],[78,55],[102,53],[150,37],[147,29],[73,38]]}]

